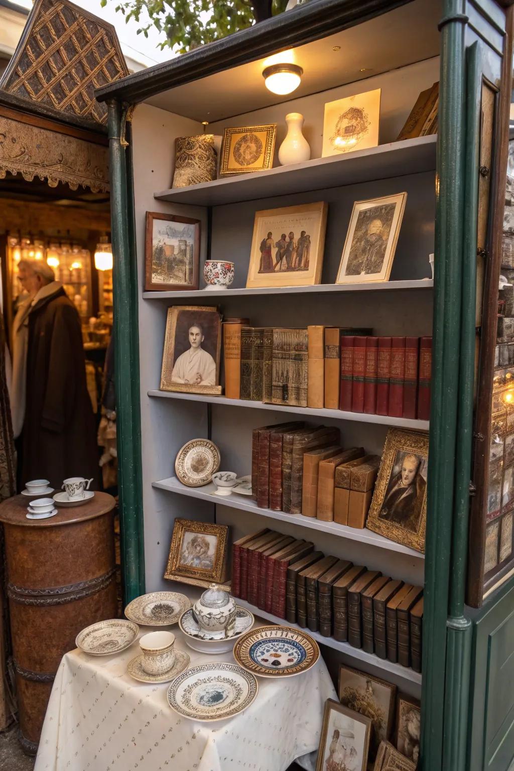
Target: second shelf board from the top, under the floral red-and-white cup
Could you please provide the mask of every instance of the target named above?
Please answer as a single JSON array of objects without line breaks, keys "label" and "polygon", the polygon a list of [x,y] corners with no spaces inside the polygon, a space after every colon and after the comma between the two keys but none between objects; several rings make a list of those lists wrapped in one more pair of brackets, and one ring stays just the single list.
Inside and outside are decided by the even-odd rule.
[{"label": "second shelf board from the top, under the floral red-and-white cup", "polygon": [[398,291],[405,289],[432,289],[432,278],[412,279],[412,281],[367,281],[359,284],[315,284],[310,287],[259,287],[247,289],[216,288],[192,289],[190,291],[143,291],[144,300],[173,300],[188,298],[203,298],[209,300],[216,297],[251,297],[252,295],[328,295],[332,292],[344,291]]}]

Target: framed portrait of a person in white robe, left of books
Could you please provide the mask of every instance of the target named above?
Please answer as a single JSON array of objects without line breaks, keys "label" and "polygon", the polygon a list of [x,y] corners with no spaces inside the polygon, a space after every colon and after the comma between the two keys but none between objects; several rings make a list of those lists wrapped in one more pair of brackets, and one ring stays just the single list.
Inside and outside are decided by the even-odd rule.
[{"label": "framed portrait of a person in white robe, left of books", "polygon": [[161,391],[219,396],[221,316],[206,305],[168,308]]}]

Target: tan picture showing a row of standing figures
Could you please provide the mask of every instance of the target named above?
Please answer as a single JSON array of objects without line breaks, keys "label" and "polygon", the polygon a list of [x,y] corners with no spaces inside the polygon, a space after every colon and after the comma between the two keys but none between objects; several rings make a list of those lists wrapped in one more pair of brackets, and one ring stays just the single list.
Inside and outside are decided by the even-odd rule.
[{"label": "tan picture showing a row of standing figures", "polygon": [[327,210],[319,201],[256,211],[247,287],[319,284]]}]

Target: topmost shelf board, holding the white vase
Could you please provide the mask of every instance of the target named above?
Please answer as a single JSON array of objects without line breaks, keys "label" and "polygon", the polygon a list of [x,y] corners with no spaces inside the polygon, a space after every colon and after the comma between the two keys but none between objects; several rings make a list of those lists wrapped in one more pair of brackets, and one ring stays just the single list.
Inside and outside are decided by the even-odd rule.
[{"label": "topmost shelf board, holding the white vase", "polygon": [[418,136],[412,140],[355,150],[346,155],[314,158],[291,166],[162,190],[155,193],[154,197],[173,204],[220,206],[401,177],[435,170],[436,144],[435,134]]}]

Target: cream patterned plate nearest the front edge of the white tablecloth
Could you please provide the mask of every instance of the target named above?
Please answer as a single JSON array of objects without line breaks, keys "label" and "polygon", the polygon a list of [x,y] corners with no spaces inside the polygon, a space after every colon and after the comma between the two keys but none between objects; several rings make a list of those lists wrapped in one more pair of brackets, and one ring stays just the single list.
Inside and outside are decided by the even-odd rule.
[{"label": "cream patterned plate nearest the front edge of the white tablecloth", "polygon": [[254,675],[237,664],[201,664],[172,682],[168,704],[185,718],[223,720],[247,709],[258,690]]}]

